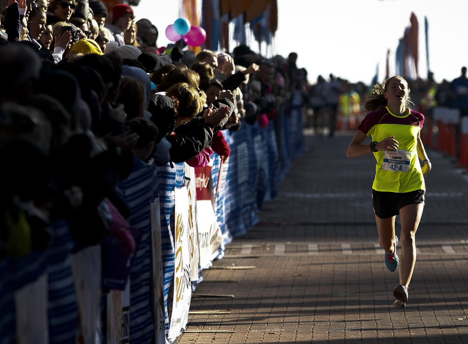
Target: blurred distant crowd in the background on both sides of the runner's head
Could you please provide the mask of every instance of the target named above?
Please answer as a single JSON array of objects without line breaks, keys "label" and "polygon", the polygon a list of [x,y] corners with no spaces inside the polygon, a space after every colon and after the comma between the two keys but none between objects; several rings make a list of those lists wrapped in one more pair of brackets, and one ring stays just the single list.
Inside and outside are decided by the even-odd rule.
[{"label": "blurred distant crowd in the background on both sides of the runner's head", "polygon": [[[432,72],[427,78],[406,79],[411,90],[411,100],[414,110],[431,118],[435,107],[459,109],[461,116],[468,114],[468,78],[467,68],[461,68],[459,77],[452,81],[443,79],[440,83],[434,80]],[[375,80],[374,83],[377,83]],[[371,84],[363,82],[351,83],[348,80],[336,78],[330,74],[326,80],[321,75],[306,87],[304,104],[305,126],[314,129],[316,134],[333,136],[335,126],[341,121],[349,121],[353,115],[354,126],[341,123],[341,129],[356,129],[359,121],[364,118],[364,103],[372,89]]]}]

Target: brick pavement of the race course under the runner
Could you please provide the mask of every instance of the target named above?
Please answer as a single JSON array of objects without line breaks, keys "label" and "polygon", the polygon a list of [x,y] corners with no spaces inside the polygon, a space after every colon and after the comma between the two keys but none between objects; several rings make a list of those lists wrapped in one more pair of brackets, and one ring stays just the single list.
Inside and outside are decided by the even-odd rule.
[{"label": "brick pavement of the race course under the runner", "polygon": [[[184,333],[176,344],[468,343],[466,177],[429,149],[418,258],[396,309],[398,272],[386,269],[374,225],[374,158],[347,159],[350,135],[306,136],[260,223],[203,272],[195,294],[234,297],[193,297],[190,312],[220,313],[190,314],[187,330],[232,333]],[[217,269],[231,266],[255,268]]]}]

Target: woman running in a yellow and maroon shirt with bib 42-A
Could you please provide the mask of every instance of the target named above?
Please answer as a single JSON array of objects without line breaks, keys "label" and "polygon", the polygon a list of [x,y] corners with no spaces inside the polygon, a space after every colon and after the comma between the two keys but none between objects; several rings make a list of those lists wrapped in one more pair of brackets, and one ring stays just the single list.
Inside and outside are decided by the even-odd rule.
[{"label": "woman running in a yellow and maroon shirt with bib 42-A", "polygon": [[[375,85],[365,103],[366,117],[358,126],[346,151],[348,158],[374,153],[377,160],[372,199],[378,243],[385,250],[390,271],[400,265],[400,283],[395,287],[395,307],[404,308],[408,285],[416,262],[415,235],[424,208],[424,177],[431,171],[420,131],[424,116],[411,110],[408,83],[401,76]],[[372,136],[371,144],[362,144]],[[422,161],[419,163],[418,158]],[[395,217],[400,215],[402,246],[397,255]]]}]

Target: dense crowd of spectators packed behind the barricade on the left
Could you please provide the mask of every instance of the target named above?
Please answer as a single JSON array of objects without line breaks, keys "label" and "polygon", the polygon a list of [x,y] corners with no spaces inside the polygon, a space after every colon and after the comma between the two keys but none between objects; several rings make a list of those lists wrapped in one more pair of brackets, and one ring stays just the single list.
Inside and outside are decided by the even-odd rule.
[{"label": "dense crowd of spectators packed behind the barricade on the left", "polygon": [[124,221],[131,215],[117,186],[135,164],[226,159],[224,130],[266,127],[281,105],[303,104],[307,73],[295,54],[161,54],[149,20],[135,22],[126,4],[111,12],[98,0],[1,9],[1,257],[47,248],[59,220],[78,247],[99,243],[110,204]]}]

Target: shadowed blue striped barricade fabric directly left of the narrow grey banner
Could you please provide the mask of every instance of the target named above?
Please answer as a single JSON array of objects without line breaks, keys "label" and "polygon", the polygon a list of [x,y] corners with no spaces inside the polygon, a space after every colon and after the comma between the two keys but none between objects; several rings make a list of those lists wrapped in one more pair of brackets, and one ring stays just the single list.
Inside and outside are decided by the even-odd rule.
[{"label": "shadowed blue striped barricade fabric directly left of the narrow grey banner", "polygon": [[[139,233],[134,256],[131,258],[129,274],[129,308],[124,304],[123,317],[129,317],[130,343],[146,343],[155,336],[155,319],[152,305],[151,278],[151,202],[156,192],[156,165],[138,158],[133,159],[133,171],[127,179],[117,185],[117,191],[130,208],[127,221],[132,234]],[[125,334],[127,329],[123,330]]]}]

